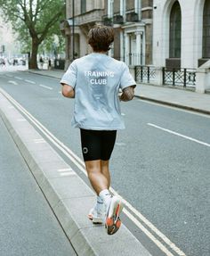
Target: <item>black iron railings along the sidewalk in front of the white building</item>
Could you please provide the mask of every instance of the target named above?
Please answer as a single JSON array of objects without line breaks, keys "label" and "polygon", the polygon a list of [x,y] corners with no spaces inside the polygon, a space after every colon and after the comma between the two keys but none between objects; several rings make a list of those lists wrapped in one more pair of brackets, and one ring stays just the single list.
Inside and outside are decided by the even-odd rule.
[{"label": "black iron railings along the sidewalk in front of the white building", "polygon": [[[160,70],[158,70],[160,71]],[[139,83],[152,84],[156,80],[157,70],[152,66],[135,66],[135,80]],[[196,70],[162,69],[163,85],[174,87],[196,87]],[[157,82],[155,82],[157,84]]]}]

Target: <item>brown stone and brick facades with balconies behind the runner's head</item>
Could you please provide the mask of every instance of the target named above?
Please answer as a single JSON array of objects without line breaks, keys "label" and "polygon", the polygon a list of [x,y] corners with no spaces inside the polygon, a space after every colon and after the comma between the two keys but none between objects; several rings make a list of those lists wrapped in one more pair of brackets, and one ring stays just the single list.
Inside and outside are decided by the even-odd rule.
[{"label": "brown stone and brick facades with balconies behind the runner's head", "polygon": [[109,51],[112,57],[129,66],[151,64],[152,6],[152,0],[67,0],[67,19],[61,23],[67,45],[66,67],[73,59],[90,53],[87,32],[95,24],[115,29],[115,42]]}]

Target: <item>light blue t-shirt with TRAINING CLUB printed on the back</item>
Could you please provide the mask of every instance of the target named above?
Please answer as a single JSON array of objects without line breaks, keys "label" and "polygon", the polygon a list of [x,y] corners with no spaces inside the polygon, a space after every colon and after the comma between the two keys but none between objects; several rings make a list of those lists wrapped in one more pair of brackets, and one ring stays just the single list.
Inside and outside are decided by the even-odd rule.
[{"label": "light blue t-shirt with TRAINING CLUB printed on the back", "polygon": [[119,88],[135,85],[125,62],[106,54],[88,54],[72,62],[61,84],[75,89],[74,128],[125,128],[118,99]]}]

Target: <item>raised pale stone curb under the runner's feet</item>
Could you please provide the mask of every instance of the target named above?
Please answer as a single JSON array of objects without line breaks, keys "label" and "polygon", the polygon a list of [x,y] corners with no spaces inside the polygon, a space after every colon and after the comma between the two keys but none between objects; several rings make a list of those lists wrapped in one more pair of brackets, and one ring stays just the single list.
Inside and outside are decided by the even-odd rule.
[{"label": "raised pale stone curb under the runner's feet", "polygon": [[113,236],[92,224],[87,213],[95,201],[93,191],[1,91],[0,113],[77,255],[150,256],[124,225]]}]

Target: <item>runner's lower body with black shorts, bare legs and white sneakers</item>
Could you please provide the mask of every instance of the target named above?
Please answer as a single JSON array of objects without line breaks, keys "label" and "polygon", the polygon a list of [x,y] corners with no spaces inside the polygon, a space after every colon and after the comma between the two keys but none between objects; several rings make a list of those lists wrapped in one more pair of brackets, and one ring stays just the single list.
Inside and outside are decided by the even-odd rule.
[{"label": "runner's lower body with black shorts, bare legs and white sneakers", "polygon": [[[97,203],[88,217],[93,223],[102,223],[104,206],[106,212],[105,227],[107,233],[113,235],[120,227],[119,214],[123,204],[117,196],[109,193],[110,175],[109,158],[116,139],[116,131],[92,131],[81,129],[82,150],[88,178],[97,194]],[[96,160],[95,160],[96,159]],[[102,160],[101,160],[102,159]],[[105,214],[104,212],[104,214]]]}]

